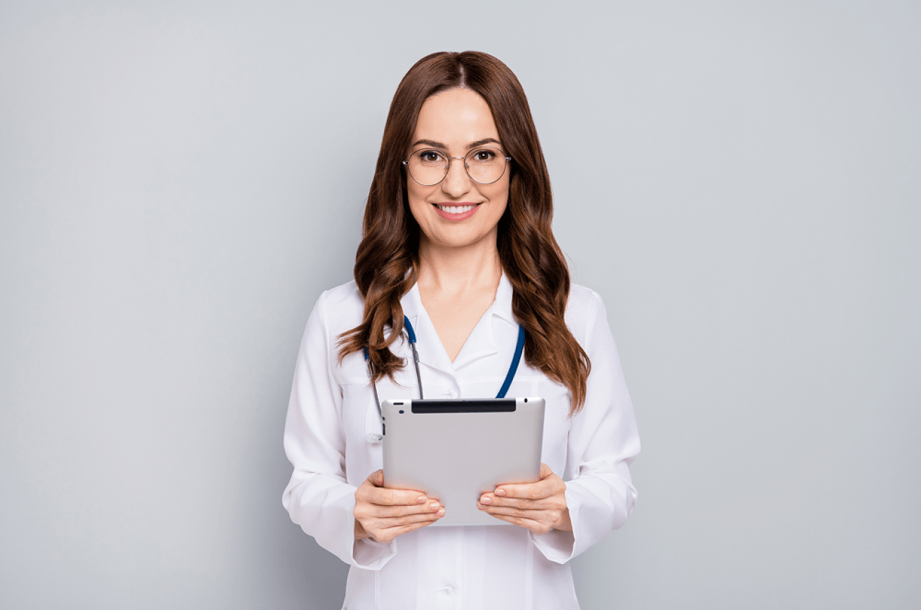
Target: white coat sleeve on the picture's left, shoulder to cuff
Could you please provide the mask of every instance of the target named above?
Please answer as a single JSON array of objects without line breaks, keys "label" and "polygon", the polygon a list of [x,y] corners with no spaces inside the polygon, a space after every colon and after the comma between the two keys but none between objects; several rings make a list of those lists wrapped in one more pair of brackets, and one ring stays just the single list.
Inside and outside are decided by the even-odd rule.
[{"label": "white coat sleeve on the picture's left, shoulder to cuff", "polygon": [[297,355],[285,423],[285,452],[294,473],[282,503],[317,543],[349,565],[380,569],[396,553],[355,540],[355,492],[345,475],[343,394],[332,374],[335,336],[324,314],[324,292],[310,314]]}]

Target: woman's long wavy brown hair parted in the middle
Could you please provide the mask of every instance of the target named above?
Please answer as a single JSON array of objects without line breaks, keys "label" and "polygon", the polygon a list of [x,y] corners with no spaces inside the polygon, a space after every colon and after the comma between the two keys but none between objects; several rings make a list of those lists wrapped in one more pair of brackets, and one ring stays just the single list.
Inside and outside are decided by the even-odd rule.
[{"label": "woman's long wavy brown hair parted in the middle", "polygon": [[393,95],[356,252],[364,319],[339,336],[339,359],[367,347],[374,381],[392,380],[403,367],[390,346],[402,332],[400,299],[416,281],[419,226],[409,209],[402,160],[423,103],[451,88],[472,89],[486,100],[512,158],[508,204],[498,226],[499,261],[513,288],[512,312],[525,330],[525,362],[568,388],[575,414],[585,403],[591,363],[565,324],[569,270],[551,227],[550,177],[524,89],[507,65],[486,53],[423,57]]}]

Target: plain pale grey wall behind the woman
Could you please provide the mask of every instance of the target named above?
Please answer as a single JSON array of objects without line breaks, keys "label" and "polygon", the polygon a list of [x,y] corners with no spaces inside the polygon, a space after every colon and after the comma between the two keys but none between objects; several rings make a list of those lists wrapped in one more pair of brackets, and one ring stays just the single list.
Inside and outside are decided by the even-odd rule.
[{"label": "plain pale grey wall behind the woman", "polygon": [[[691,5],[694,6],[691,6]],[[297,345],[385,114],[503,59],[604,297],[640,500],[586,610],[921,605],[921,6],[0,5],[0,605],[333,608]]]}]

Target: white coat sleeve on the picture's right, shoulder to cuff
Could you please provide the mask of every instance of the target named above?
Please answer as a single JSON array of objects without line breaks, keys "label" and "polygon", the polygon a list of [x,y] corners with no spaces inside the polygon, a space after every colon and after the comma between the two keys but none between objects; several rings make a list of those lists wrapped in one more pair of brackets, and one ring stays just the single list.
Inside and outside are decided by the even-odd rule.
[{"label": "white coat sleeve on the picture's right, shoulder to cuff", "polygon": [[591,372],[585,405],[569,429],[564,476],[573,531],[530,534],[543,556],[560,564],[621,527],[636,503],[630,463],[639,453],[639,433],[604,304],[594,292],[584,321],[585,334],[573,330]]}]

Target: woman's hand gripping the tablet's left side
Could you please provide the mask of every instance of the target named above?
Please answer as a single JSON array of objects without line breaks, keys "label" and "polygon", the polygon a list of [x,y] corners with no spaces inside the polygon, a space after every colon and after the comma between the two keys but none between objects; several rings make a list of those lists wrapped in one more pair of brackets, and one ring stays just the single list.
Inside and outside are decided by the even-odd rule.
[{"label": "woman's hand gripping the tablet's left side", "polygon": [[408,489],[388,489],[384,471],[371,473],[355,492],[355,539],[389,543],[401,534],[431,525],[445,509],[426,494]]}]

